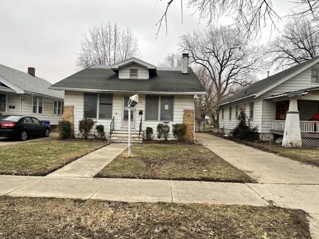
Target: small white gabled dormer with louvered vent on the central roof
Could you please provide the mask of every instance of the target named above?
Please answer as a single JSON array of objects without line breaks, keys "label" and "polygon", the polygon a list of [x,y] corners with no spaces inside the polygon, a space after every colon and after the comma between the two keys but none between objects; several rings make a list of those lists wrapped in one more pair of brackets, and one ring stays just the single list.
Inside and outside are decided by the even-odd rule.
[{"label": "small white gabled dormer with louvered vent on the central roof", "polygon": [[156,66],[132,57],[111,66],[111,69],[119,76],[119,79],[147,80],[156,75]]}]

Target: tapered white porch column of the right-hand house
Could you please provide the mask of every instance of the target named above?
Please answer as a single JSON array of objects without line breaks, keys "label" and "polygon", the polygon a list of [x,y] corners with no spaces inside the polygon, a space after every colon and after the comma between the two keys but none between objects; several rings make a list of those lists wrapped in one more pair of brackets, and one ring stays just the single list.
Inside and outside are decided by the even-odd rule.
[{"label": "tapered white porch column of the right-hand house", "polygon": [[300,119],[297,99],[290,99],[289,111],[286,116],[285,131],[283,137],[284,147],[302,146]]}]

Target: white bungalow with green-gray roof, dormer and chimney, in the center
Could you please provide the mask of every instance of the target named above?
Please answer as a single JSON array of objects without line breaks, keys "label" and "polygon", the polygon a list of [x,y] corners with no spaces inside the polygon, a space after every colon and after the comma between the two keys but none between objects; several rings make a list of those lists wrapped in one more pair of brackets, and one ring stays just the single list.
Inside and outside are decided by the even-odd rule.
[{"label": "white bungalow with green-gray roof, dormer and chimney, in the center", "polygon": [[[162,68],[137,58],[117,64],[94,65],[53,84],[49,89],[65,91],[64,119],[74,125],[84,118],[104,125],[111,140],[122,142],[128,137],[128,101],[138,94],[139,103],[131,111],[134,140],[141,142],[146,127],[152,127],[156,139],[157,125],[185,123],[187,139],[194,140],[194,98],[205,89],[188,67],[188,54],[182,55],[183,66]],[[172,139],[172,137],[171,137]]]}]

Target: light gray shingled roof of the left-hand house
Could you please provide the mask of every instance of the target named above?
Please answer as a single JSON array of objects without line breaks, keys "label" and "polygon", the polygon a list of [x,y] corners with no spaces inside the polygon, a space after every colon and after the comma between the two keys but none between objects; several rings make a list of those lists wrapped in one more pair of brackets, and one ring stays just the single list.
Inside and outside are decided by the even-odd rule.
[{"label": "light gray shingled roof of the left-hand house", "polygon": [[0,77],[26,93],[35,93],[55,98],[64,98],[63,91],[50,90],[50,82],[0,64]]}]

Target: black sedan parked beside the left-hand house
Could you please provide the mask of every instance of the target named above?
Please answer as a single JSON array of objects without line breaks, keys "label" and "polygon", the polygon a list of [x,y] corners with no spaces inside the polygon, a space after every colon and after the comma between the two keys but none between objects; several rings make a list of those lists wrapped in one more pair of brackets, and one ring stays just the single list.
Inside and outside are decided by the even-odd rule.
[{"label": "black sedan parked beside the left-hand house", "polygon": [[0,137],[22,141],[31,136],[48,137],[50,126],[31,116],[0,116]]}]

